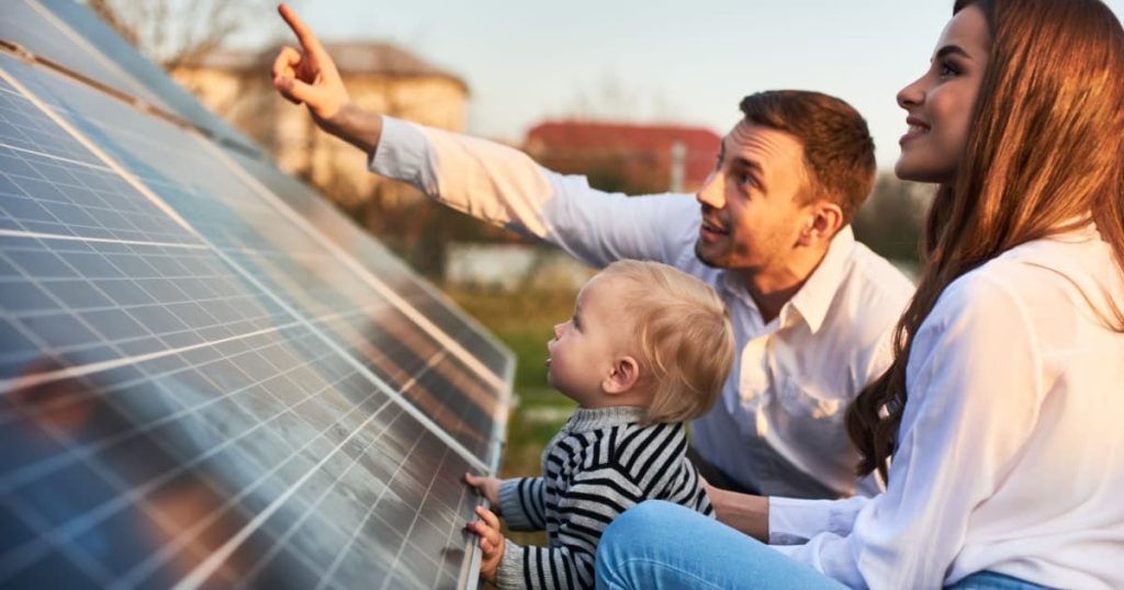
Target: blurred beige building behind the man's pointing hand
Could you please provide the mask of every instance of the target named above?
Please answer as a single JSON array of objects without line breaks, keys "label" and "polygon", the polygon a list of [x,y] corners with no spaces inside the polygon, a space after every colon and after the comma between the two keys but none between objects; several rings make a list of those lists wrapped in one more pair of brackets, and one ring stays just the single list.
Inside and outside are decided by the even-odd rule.
[{"label": "blurred beige building behind the man's pointing hand", "polygon": [[[463,131],[465,82],[387,43],[325,43],[352,99],[361,107],[432,127]],[[281,100],[270,83],[279,47],[220,49],[172,76],[211,110],[265,145],[287,172],[305,178],[346,209],[378,198],[383,208],[416,200],[400,183],[366,171],[354,147],[319,131],[302,108]]]}]

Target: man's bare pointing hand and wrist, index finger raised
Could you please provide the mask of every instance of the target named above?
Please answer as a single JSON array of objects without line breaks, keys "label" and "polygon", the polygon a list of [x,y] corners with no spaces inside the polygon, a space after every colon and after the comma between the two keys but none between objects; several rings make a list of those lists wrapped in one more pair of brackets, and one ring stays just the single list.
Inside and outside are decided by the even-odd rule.
[{"label": "man's bare pointing hand and wrist, index finger raised", "polygon": [[308,107],[325,131],[373,153],[382,135],[382,117],[352,102],[332,56],[292,8],[280,4],[278,12],[297,35],[300,48],[281,48],[273,61],[273,88],[290,102]]}]

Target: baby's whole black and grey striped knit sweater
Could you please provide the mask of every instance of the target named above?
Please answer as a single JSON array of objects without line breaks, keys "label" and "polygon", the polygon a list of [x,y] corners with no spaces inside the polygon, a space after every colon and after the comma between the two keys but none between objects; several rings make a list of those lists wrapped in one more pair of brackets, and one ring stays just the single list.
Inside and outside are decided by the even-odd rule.
[{"label": "baby's whole black and grey striped knit sweater", "polygon": [[593,588],[601,533],[644,500],[711,515],[687,459],[683,424],[637,423],[643,408],[578,409],[543,451],[543,476],[506,480],[499,508],[513,530],[546,529],[546,547],[508,541],[499,588]]}]

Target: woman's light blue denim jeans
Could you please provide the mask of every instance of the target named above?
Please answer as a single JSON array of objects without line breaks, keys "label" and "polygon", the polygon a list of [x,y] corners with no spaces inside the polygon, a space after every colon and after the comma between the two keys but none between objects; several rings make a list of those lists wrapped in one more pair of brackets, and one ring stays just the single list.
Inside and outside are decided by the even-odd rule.
[{"label": "woman's light blue denim jeans", "polygon": [[[678,505],[650,500],[617,517],[597,547],[597,588],[839,590],[840,582],[768,545]],[[955,590],[1042,587],[980,572]]]}]

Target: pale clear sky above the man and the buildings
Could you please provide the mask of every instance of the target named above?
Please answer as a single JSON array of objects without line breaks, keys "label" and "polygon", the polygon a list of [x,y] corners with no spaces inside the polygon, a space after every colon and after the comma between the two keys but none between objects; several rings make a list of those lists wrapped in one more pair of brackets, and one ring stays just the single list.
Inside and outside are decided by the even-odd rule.
[{"label": "pale clear sky above the man and the buildings", "polygon": [[[1124,0],[1106,2],[1117,17]],[[601,116],[727,133],[742,97],[817,90],[853,105],[889,170],[895,96],[928,64],[952,0],[298,0],[324,39],[396,43],[463,79],[468,133],[519,143],[547,118]],[[235,44],[284,33],[259,24]],[[293,42],[296,43],[296,42]]]}]

